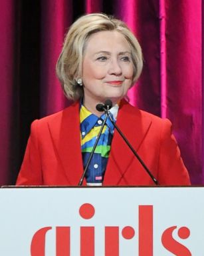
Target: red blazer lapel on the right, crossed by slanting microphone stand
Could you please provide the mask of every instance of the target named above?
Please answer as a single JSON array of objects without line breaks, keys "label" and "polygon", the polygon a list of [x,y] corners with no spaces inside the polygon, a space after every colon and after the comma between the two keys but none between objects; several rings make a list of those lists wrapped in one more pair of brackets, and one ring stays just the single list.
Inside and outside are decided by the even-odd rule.
[{"label": "red blazer lapel on the right, crossed by slanting microphone stand", "polygon": [[[150,118],[142,117],[141,111],[138,108],[132,107],[129,103],[122,100],[116,125],[118,125],[136,151],[142,145],[151,123],[152,120]],[[120,183],[128,185],[126,181],[122,182],[122,179],[134,157],[128,145],[126,145],[115,129],[104,177],[104,185],[119,185]]]}]

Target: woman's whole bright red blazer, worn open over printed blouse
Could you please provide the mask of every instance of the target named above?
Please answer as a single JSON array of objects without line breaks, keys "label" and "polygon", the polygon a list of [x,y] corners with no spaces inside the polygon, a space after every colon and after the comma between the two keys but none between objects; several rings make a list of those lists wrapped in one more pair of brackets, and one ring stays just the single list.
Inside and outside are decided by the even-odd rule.
[{"label": "woman's whole bright red blazer, worn open over printed blouse", "polygon": [[[190,185],[169,120],[122,101],[116,123],[160,185]],[[79,103],[35,120],[17,185],[78,185],[82,172]],[[153,185],[116,130],[103,184]]]}]

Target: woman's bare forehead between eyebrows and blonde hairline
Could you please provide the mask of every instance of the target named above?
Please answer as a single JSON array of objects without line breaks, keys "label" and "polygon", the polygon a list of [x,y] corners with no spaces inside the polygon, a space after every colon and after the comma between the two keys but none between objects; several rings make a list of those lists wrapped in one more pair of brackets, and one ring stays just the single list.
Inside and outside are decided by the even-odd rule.
[{"label": "woman's bare forehead between eyebrows and blonde hairline", "polygon": [[118,31],[100,31],[90,35],[84,53],[130,51],[130,44]]}]

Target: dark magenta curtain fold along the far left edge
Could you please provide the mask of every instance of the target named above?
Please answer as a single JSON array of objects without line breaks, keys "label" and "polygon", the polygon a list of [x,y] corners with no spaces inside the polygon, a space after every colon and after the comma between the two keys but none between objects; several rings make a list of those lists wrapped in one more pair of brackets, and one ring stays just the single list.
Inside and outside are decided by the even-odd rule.
[{"label": "dark magenta curtain fold along the far left edge", "polygon": [[19,75],[19,69],[16,65],[19,51],[15,49],[15,45],[19,47],[16,9],[18,8],[13,0],[1,2],[0,184],[13,182],[11,171],[15,169],[15,163],[19,157],[19,152],[16,151],[17,143],[19,143],[16,130],[19,125],[17,123],[19,99],[15,92],[18,89],[17,79]]}]

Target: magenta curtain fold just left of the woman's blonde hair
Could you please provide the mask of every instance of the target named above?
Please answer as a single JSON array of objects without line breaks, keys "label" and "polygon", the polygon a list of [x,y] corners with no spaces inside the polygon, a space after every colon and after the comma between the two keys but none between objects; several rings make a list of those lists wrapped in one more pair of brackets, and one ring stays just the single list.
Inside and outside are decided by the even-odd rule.
[{"label": "magenta curtain fold just left of the woman's blonde hair", "polygon": [[66,106],[55,65],[67,27],[72,23],[72,1],[41,2],[41,115]]}]

